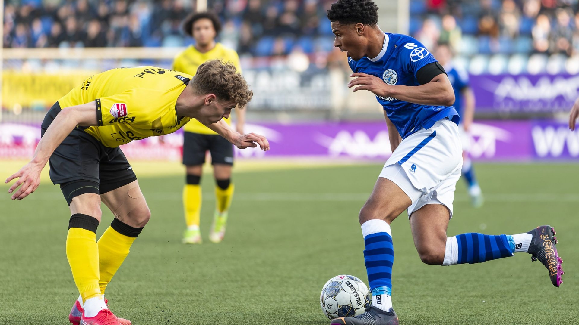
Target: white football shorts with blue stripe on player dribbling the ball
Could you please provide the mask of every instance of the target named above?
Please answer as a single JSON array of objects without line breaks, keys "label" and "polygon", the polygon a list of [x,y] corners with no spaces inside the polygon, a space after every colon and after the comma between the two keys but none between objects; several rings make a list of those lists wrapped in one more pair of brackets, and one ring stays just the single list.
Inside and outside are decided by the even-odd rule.
[{"label": "white football shorts with blue stripe on player dribbling the ball", "polygon": [[386,161],[379,177],[397,184],[412,201],[408,216],[427,204],[450,211],[463,165],[459,126],[443,119],[402,140]]}]

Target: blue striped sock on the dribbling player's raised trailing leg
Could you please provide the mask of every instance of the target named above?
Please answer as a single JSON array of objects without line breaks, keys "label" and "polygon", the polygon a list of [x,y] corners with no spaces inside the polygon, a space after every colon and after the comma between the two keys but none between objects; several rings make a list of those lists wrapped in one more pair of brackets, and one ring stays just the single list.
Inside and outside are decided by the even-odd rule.
[{"label": "blue striped sock on the dribbling player's raised trailing leg", "polygon": [[510,238],[508,238],[510,236],[507,235],[494,236],[469,232],[455,237],[458,248],[456,264],[482,263],[496,260],[497,258],[514,256]]}]

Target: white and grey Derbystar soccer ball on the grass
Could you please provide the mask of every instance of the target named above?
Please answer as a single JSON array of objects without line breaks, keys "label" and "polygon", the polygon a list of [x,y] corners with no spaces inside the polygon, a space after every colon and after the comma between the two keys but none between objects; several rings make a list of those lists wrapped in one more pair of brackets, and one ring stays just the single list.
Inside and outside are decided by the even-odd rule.
[{"label": "white and grey Derbystar soccer ball on the grass", "polygon": [[372,304],[370,291],[362,280],[351,275],[334,276],[320,294],[320,305],[329,319],[360,315]]}]

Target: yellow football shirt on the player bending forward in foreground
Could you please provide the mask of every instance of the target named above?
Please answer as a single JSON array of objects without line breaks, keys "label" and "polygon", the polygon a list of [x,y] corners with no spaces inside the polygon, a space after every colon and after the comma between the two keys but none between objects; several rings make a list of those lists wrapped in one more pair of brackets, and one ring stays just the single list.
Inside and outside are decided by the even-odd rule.
[{"label": "yellow football shirt on the player bending forward in foreground", "polygon": [[175,104],[192,76],[157,67],[111,69],[58,99],[61,108],[96,101],[98,126],[86,128],[107,147],[173,133],[189,122]]}]

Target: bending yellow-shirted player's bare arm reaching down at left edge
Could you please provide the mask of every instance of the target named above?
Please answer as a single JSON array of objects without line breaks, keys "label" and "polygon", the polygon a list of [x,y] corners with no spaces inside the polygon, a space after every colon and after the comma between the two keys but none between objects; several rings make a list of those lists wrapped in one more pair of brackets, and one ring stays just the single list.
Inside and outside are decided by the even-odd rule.
[{"label": "bending yellow-shirted player's bare arm reaching down at left edge", "polygon": [[8,190],[8,193],[12,194],[20,186],[20,189],[12,194],[12,200],[22,200],[38,188],[40,173],[46,162],[48,162],[56,147],[74,130],[76,125],[97,125],[96,110],[96,104],[91,102],[64,108],[58,113],[50,127],[47,128],[44,136],[42,136],[41,141],[38,142],[32,160],[5,180],[4,183],[8,183],[10,180],[18,178],[16,183],[12,184]]}]

